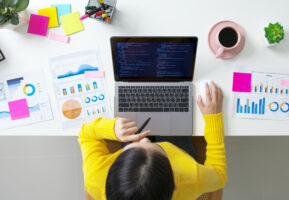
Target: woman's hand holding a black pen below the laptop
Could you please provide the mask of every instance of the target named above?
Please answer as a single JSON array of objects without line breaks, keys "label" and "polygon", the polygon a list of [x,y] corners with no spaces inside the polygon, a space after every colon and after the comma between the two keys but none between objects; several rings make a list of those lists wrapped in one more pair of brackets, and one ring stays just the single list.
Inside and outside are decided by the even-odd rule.
[{"label": "woman's hand holding a black pen below the laptop", "polygon": [[122,142],[137,142],[151,133],[150,131],[145,131],[135,135],[137,130],[136,123],[131,119],[119,118],[115,121],[114,132],[116,137]]}]

